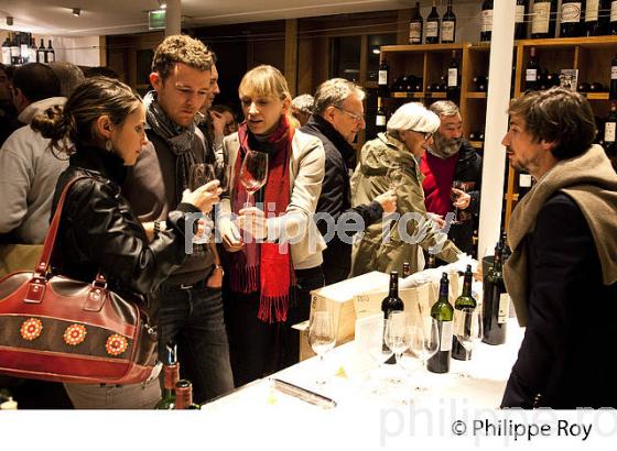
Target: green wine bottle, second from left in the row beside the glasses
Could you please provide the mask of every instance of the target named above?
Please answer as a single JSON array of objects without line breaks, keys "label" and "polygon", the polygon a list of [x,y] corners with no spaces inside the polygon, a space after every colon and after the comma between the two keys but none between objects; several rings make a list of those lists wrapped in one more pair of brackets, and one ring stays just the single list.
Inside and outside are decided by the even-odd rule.
[{"label": "green wine bottle, second from left in the row beside the glasses", "polygon": [[447,300],[450,280],[447,273],[443,273],[440,280],[440,297],[431,308],[431,317],[437,321],[440,329],[440,348],[437,352],[429,359],[429,371],[433,373],[447,373],[450,371],[450,356],[452,353],[452,338],[454,309]]}]

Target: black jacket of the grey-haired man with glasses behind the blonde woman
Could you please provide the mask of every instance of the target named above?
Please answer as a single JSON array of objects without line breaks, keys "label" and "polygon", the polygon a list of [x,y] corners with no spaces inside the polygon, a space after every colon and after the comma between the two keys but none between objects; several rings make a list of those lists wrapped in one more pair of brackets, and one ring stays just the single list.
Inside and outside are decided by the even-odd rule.
[{"label": "black jacket of the grey-haired man with glasses behind the blonde woman", "polygon": [[[349,169],[353,170],[356,165],[356,151],[340,133],[318,116],[312,116],[300,131],[317,136],[324,143],[325,175],[315,212],[328,213],[334,221],[338,221],[342,215],[357,213],[362,218],[365,228],[381,218],[383,210],[379,202],[372,201],[351,208]],[[328,231],[327,223],[320,220],[317,228],[325,237]],[[345,243],[335,234],[328,240],[327,249],[323,253],[326,284],[347,278],[351,270],[350,239],[348,237]]]}]

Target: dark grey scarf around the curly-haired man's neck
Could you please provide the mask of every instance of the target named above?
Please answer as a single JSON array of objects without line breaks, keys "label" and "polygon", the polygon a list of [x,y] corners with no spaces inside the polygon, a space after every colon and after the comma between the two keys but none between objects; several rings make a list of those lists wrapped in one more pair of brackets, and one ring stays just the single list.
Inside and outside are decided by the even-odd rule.
[{"label": "dark grey scarf around the curly-haired man's neck", "polygon": [[156,92],[150,91],[143,98],[145,106],[145,120],[148,125],[159,136],[165,140],[175,158],[175,193],[177,204],[182,200],[182,193],[190,188],[191,167],[196,163],[193,154],[193,140],[195,136],[195,124],[190,127],[176,125],[163,111],[156,101]]}]

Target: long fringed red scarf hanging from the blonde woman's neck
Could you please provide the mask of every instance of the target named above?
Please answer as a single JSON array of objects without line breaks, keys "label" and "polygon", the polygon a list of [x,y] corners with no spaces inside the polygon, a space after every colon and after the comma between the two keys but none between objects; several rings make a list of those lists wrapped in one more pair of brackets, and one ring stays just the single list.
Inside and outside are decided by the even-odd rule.
[{"label": "long fringed red scarf hanging from the blonde woman's neck", "polygon": [[[249,145],[249,130],[242,122],[238,129],[240,148],[236,166],[234,167],[234,212],[238,213],[247,201],[247,190],[240,183],[240,167]],[[277,217],[284,215],[290,202],[289,161],[294,129],[290,127],[285,116],[279,121],[279,127],[268,139],[268,144],[275,147],[269,155],[268,182],[264,190],[263,205],[274,205]],[[269,212],[269,215],[272,215]],[[258,278],[259,274],[259,278]],[[288,318],[290,287],[292,286],[293,265],[289,244],[256,243],[251,240],[245,243],[241,251],[232,254],[231,274],[229,276],[231,290],[250,294],[259,290],[259,310],[257,317],[264,322],[285,321]],[[273,314],[273,315],[272,315]]]}]

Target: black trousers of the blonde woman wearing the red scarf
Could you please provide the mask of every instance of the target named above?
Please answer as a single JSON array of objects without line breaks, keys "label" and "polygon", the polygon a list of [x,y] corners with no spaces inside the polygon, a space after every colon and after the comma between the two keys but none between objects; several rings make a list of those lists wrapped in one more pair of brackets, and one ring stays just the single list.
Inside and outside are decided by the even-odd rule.
[{"label": "black trousers of the blonde woman wearing the red scarf", "polygon": [[229,341],[234,382],[237,387],[261,378],[300,360],[300,333],[291,327],[308,319],[311,292],[324,286],[322,267],[295,271],[288,318],[284,322],[263,322],[257,318],[259,293],[229,293]]}]

